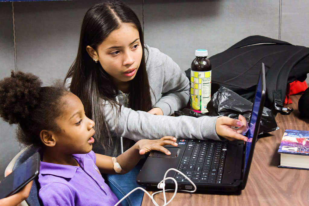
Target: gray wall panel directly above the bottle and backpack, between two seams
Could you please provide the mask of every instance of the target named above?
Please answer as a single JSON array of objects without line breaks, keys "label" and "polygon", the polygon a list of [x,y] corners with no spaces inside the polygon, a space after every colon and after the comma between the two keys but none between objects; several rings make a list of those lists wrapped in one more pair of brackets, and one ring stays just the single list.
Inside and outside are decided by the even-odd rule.
[{"label": "gray wall panel directly above the bottle and backpack, between two seams", "polygon": [[250,35],[278,38],[279,1],[151,1],[144,6],[145,42],[188,69],[198,48],[209,57]]}]

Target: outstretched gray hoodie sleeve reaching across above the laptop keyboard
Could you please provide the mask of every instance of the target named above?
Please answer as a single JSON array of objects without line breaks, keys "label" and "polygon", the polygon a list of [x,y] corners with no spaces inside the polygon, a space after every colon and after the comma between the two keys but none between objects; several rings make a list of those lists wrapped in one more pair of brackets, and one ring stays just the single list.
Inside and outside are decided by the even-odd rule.
[{"label": "outstretched gray hoodie sleeve reaching across above the laptop keyboard", "polygon": [[108,102],[104,106],[104,115],[110,131],[121,137],[135,141],[140,139],[159,139],[163,136],[189,139],[214,139],[222,141],[215,125],[218,117],[202,116],[165,116],[152,115],[145,111],[134,111],[121,106],[116,115],[116,107]]}]

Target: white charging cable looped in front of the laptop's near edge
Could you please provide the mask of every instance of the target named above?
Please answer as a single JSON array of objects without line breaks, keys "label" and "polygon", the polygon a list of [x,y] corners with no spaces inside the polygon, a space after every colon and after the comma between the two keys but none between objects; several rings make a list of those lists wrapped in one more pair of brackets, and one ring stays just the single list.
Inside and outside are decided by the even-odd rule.
[{"label": "white charging cable looped in front of the laptop's near edge", "polygon": [[[120,204],[126,197],[128,197],[131,193],[133,193],[134,191],[136,191],[136,190],[138,190],[138,189],[144,191],[144,192],[146,193],[146,195],[148,195],[148,196],[150,197],[152,203],[153,203],[155,206],[159,206],[159,204],[154,200],[153,196],[154,196],[155,194],[160,193],[160,192],[163,192],[163,197],[164,197],[164,204],[163,204],[162,206],[166,206],[166,205],[170,204],[171,201],[174,199],[174,197],[175,197],[175,195],[176,195],[176,193],[177,193],[177,188],[178,188],[178,184],[177,184],[176,179],[174,179],[174,178],[172,178],[172,177],[166,177],[167,173],[168,173],[169,171],[171,171],[171,170],[174,170],[174,171],[178,172],[179,174],[181,174],[182,176],[184,176],[186,179],[188,179],[188,181],[189,181],[189,182],[193,185],[193,187],[194,187],[194,190],[180,190],[180,191],[185,191],[185,192],[195,192],[195,191],[196,191],[196,189],[197,189],[197,188],[196,188],[196,185],[191,181],[191,179],[189,179],[184,173],[180,172],[179,170],[176,170],[176,169],[174,169],[174,168],[170,168],[170,169],[168,169],[168,170],[165,172],[163,180],[161,180],[161,182],[159,182],[159,184],[158,184],[158,186],[157,186],[158,189],[163,189],[162,191],[157,191],[157,192],[154,192],[152,195],[150,195],[149,192],[147,192],[144,188],[142,188],[142,187],[136,187],[135,189],[133,189],[132,191],[130,191],[127,195],[125,195],[123,198],[121,198],[121,200],[119,200],[114,206],[117,206],[118,204]],[[171,180],[174,181],[174,183],[175,183],[175,189],[167,189],[167,190],[165,190],[165,180],[167,180],[167,179],[171,179]],[[174,194],[173,194],[173,196],[171,197],[171,199],[170,199],[168,202],[166,202],[165,191],[170,191],[170,190],[175,190],[175,191],[174,191]]]}]

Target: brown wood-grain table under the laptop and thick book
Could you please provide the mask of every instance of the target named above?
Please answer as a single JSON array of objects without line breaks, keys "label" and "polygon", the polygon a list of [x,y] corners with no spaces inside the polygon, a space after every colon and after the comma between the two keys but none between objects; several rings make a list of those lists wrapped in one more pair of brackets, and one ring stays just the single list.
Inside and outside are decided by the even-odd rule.
[{"label": "brown wood-grain table under the laptop and thick book", "polygon": [[[280,162],[277,151],[285,129],[309,131],[309,119],[301,117],[298,111],[300,96],[291,96],[293,103],[287,107],[293,107],[294,111],[290,115],[277,114],[280,129],[257,141],[244,190],[231,195],[177,192],[169,205],[309,205],[309,170],[277,167]],[[167,201],[172,195],[166,193]],[[155,201],[163,205],[162,193],[155,195]],[[147,195],[142,205],[153,205]]]}]

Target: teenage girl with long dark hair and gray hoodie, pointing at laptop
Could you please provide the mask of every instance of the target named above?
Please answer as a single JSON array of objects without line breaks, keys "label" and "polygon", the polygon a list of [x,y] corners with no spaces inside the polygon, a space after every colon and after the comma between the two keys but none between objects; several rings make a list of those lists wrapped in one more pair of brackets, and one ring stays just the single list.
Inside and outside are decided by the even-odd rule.
[{"label": "teenage girl with long dark hair and gray hoodie, pointing at laptop", "polygon": [[[121,1],[99,3],[87,11],[66,85],[96,123],[96,139],[101,145],[95,151],[99,153],[115,156],[120,145],[125,150],[139,139],[165,135],[246,140],[241,135],[247,129],[242,116],[239,120],[169,116],[188,103],[188,78],[170,57],[144,44],[137,15]],[[120,137],[125,137],[123,144]],[[117,188],[123,184],[108,180]]]}]

